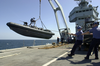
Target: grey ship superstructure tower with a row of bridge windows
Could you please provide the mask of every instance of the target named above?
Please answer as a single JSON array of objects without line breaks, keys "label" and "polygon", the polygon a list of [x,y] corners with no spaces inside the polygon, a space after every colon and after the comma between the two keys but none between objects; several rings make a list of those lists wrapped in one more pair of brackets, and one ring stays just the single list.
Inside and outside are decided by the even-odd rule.
[{"label": "grey ship superstructure tower with a row of bridge windows", "polygon": [[[82,30],[85,32],[92,28],[93,22],[100,20],[100,18],[98,18],[99,13],[97,12],[98,6],[96,7],[92,6],[91,4],[89,4],[87,0],[75,0],[75,1],[78,1],[79,3],[78,6],[74,7],[74,9],[70,12],[69,21],[71,23],[75,22],[76,27],[82,26]],[[84,40],[86,40],[86,37],[88,37],[87,41],[89,41],[92,36],[85,35]]]}]

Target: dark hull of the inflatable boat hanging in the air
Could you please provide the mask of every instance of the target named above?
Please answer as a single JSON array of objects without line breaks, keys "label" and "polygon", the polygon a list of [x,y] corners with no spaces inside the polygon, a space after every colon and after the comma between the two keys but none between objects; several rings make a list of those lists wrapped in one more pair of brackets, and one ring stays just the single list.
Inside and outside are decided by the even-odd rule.
[{"label": "dark hull of the inflatable boat hanging in the air", "polygon": [[47,32],[44,30],[39,30],[36,28],[32,28],[25,25],[19,25],[12,22],[8,22],[7,26],[9,26],[9,28],[15,31],[16,33],[21,34],[23,36],[28,36],[28,37],[50,39],[52,35],[54,35],[54,33],[52,32]]}]

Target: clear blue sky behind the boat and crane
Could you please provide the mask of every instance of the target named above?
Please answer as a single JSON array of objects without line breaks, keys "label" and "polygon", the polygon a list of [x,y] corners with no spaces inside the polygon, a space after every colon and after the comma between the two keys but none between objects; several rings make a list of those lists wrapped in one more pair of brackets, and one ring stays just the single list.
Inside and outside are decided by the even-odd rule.
[{"label": "clear blue sky behind the boat and crane", "polygon": [[[54,0],[52,1],[54,3]],[[63,8],[67,26],[70,28],[71,33],[75,33],[75,23],[70,23],[68,16],[71,10],[74,7],[78,6],[77,2],[74,0],[58,0],[58,2]],[[92,3],[90,4],[92,4],[93,6],[100,6],[99,0],[92,0]],[[55,3],[54,5],[56,6]],[[100,7],[98,7],[98,12],[100,13]],[[29,24],[32,17],[35,17],[35,19],[39,18],[39,0],[0,0],[0,40],[40,39],[35,37],[22,36],[12,31],[6,25],[7,22],[23,24],[23,22],[21,21],[28,22]],[[55,33],[51,40],[60,37],[54,11],[48,0],[41,0],[41,19],[46,28]],[[62,19],[59,18],[59,21],[61,22],[60,25],[61,27],[63,27],[64,23],[61,20]],[[36,26],[42,27],[40,20],[36,22]]]}]

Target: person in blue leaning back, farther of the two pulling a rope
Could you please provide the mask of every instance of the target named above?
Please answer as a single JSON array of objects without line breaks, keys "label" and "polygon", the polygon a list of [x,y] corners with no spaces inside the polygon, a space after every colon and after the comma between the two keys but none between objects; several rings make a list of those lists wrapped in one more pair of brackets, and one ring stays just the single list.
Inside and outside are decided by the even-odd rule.
[{"label": "person in blue leaning back, farther of the two pulling a rope", "polygon": [[82,35],[83,34],[82,27],[78,26],[77,29],[78,29],[78,32],[76,34],[72,34],[72,33],[70,34],[70,35],[76,36],[77,40],[75,41],[75,44],[74,44],[74,46],[71,50],[71,53],[68,54],[68,56],[73,56],[74,53],[75,53],[76,48],[79,47],[83,42],[84,35]]}]

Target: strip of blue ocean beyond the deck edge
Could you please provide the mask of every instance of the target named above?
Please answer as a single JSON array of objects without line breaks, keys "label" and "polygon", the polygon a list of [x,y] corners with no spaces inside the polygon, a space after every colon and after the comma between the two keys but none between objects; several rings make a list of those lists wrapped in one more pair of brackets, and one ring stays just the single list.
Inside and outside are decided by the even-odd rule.
[{"label": "strip of blue ocean beyond the deck edge", "polygon": [[0,40],[0,50],[56,43],[56,40]]}]

